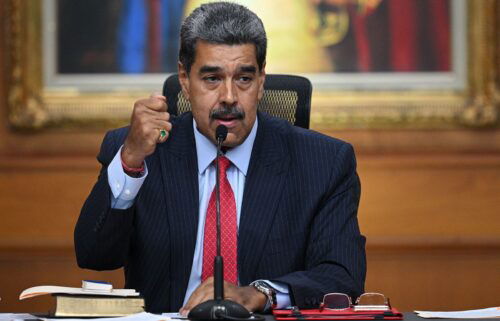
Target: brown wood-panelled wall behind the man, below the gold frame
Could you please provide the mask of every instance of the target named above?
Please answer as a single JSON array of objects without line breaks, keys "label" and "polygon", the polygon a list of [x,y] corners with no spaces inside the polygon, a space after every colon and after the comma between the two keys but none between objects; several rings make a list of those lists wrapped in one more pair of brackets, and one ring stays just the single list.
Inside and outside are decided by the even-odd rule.
[{"label": "brown wood-panelled wall behind the man, below the gold frame", "polygon": [[[0,312],[43,312],[50,298],[19,302],[19,293],[85,278],[123,282],[121,271],[78,269],[72,248],[104,130],[11,130],[4,48],[0,37]],[[366,289],[403,311],[498,305],[500,130],[327,134],[357,150]]]}]

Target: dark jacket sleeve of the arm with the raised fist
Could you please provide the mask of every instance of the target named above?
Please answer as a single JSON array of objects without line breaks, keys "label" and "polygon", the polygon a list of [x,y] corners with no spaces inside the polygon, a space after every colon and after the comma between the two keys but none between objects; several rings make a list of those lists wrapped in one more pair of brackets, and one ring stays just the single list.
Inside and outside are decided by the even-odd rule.
[{"label": "dark jacket sleeve of the arm with the raised fist", "polygon": [[107,167],[118,152],[126,130],[108,132],[97,160],[101,171],[83,204],[74,232],[78,266],[94,270],[118,269],[126,264],[133,234],[134,209],[111,208]]}]

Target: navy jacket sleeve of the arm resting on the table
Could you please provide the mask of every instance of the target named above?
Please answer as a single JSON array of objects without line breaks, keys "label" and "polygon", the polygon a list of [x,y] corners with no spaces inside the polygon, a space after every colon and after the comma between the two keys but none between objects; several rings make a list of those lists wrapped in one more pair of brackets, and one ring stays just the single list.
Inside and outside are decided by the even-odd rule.
[{"label": "navy jacket sleeve of the arm resting on the table", "polygon": [[292,304],[299,307],[317,307],[326,293],[356,298],[364,292],[366,240],[357,220],[361,188],[351,145],[340,149],[330,176],[311,225],[305,270],[273,280],[288,284]]}]

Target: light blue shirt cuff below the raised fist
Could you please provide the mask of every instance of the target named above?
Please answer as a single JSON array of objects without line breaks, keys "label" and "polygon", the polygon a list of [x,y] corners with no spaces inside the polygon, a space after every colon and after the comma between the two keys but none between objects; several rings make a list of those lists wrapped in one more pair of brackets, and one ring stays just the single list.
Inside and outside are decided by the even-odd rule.
[{"label": "light blue shirt cuff below the raised fist", "polygon": [[108,184],[111,188],[111,207],[127,209],[132,206],[144,180],[148,176],[148,167],[144,162],[144,174],[141,177],[128,176],[122,167],[121,151],[118,150],[108,166]]}]

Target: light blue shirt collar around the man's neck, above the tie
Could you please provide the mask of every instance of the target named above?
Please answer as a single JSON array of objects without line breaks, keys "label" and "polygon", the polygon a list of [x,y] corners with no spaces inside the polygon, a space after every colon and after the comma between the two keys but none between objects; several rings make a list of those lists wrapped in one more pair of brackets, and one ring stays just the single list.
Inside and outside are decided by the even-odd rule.
[{"label": "light blue shirt collar around the man's neck, above the tie", "polygon": [[[226,157],[238,168],[243,175],[247,175],[250,156],[252,155],[253,143],[257,134],[258,120],[255,118],[252,130],[241,145],[231,148],[226,152]],[[202,133],[198,131],[196,121],[193,118],[194,140],[196,142],[196,154],[198,156],[198,172],[202,174],[217,156],[217,147]]]}]

